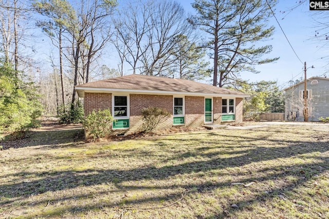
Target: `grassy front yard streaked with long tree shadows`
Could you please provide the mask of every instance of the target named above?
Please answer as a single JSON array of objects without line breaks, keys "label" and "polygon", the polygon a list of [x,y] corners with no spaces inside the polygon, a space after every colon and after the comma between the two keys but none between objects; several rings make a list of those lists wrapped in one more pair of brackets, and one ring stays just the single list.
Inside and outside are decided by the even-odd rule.
[{"label": "grassy front yard streaked with long tree shadows", "polygon": [[329,218],[328,125],[88,144],[67,131],[0,151],[1,218]]}]

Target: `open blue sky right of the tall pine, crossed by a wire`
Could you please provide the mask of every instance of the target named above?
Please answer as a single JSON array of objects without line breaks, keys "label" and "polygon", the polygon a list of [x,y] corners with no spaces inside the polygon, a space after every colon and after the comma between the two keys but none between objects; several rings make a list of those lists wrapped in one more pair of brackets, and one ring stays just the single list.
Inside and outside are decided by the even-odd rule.
[{"label": "open blue sky right of the tall pine, crossed by a wire", "polygon": [[[188,13],[195,13],[191,7],[192,2],[191,0],[185,1],[183,4]],[[258,66],[257,70],[261,71],[259,74],[241,73],[243,79],[248,79],[249,82],[274,80],[282,87],[287,87],[287,82],[291,78],[297,79],[304,75],[304,62],[306,62],[307,67],[312,65],[315,67],[307,70],[307,77],[325,73],[325,60],[321,57],[327,56],[326,49],[321,48],[319,42],[312,40],[316,29],[314,28],[315,22],[310,15],[315,12],[309,11],[308,1],[300,7],[291,10],[292,7],[296,6],[296,2],[281,0],[274,9],[281,27],[302,63],[290,48],[275,18],[271,17],[269,25],[275,26],[276,29],[272,36],[273,39],[267,41],[266,44],[273,47],[270,56],[280,57],[280,59],[275,63]],[[283,11],[286,11],[286,13],[282,13]]]}]

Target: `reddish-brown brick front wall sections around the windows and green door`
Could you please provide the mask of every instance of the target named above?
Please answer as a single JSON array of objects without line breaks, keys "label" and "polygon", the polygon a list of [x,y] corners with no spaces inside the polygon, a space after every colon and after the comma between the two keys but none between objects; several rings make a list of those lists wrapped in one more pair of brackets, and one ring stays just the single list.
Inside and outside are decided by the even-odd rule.
[{"label": "reddish-brown brick front wall sections around the windows and green door", "polygon": [[[243,122],[242,98],[235,98],[235,123]],[[130,94],[130,130],[126,133],[134,133],[141,128],[141,110],[147,107],[161,107],[173,114],[172,95],[148,95]],[[185,96],[185,126],[198,127],[204,124],[205,97]],[[112,93],[85,93],[84,112],[87,115],[93,109],[109,109],[112,112]],[[213,98],[214,123],[222,122],[222,98]],[[158,129],[173,126],[173,116],[165,123],[159,125]]]}]

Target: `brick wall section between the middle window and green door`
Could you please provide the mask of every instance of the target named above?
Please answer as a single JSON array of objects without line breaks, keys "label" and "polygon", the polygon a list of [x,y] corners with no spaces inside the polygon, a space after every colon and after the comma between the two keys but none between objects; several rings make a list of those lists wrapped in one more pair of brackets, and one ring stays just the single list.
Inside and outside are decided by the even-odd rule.
[{"label": "brick wall section between the middle window and green door", "polygon": [[185,96],[185,125],[202,126],[205,121],[205,98],[203,96]]}]

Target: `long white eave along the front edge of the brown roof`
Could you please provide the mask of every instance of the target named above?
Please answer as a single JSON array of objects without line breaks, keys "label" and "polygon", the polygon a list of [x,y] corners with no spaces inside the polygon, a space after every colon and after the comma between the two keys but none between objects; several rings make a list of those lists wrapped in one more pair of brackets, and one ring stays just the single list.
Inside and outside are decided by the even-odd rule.
[{"label": "long white eave along the front edge of the brown roof", "polygon": [[90,93],[135,93],[135,94],[153,94],[153,95],[190,95],[190,96],[225,96],[225,97],[249,97],[247,94],[225,94],[225,93],[201,93],[201,92],[178,92],[162,90],[134,90],[134,89],[117,89],[117,88],[93,88],[93,87],[76,87],[79,97],[84,97],[85,92]]}]

